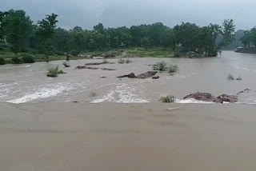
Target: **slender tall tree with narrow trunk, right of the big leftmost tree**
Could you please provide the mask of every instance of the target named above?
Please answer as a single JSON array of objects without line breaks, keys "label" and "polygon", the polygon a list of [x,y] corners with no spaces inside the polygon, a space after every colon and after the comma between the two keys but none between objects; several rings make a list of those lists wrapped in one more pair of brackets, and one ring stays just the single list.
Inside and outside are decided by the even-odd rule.
[{"label": "slender tall tree with narrow trunk, right of the big leftmost tree", "polygon": [[46,15],[46,19],[38,22],[38,35],[42,38],[42,51],[46,55],[46,62],[50,61],[49,55],[53,50],[51,39],[54,36],[54,30],[58,22],[57,17],[57,14]]}]

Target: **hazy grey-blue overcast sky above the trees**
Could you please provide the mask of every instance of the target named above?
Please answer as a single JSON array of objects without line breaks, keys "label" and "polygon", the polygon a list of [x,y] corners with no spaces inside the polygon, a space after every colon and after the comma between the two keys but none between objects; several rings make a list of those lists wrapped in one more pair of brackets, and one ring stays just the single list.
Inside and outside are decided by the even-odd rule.
[{"label": "hazy grey-blue overcast sky above the trees", "polygon": [[35,22],[58,14],[58,26],[91,29],[162,22],[175,26],[194,22],[206,26],[233,18],[236,28],[256,26],[256,0],[0,0],[0,10],[25,10]]}]

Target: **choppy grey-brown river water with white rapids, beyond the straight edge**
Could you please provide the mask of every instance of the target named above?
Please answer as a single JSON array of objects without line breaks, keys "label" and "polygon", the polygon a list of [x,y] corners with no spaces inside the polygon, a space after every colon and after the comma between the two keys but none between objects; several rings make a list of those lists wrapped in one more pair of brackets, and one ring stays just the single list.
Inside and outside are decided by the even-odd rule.
[{"label": "choppy grey-brown river water with white rapids, beyond the straight edge", "polygon": [[[115,64],[97,67],[115,69],[74,70],[86,62],[102,62],[100,59],[70,61],[70,68],[62,66],[63,61],[36,62],[34,64],[0,66],[0,101],[11,103],[39,101],[79,101],[79,102],[154,102],[162,95],[170,94],[179,103],[199,102],[181,100],[195,92],[236,94],[243,89],[251,89],[239,95],[239,102],[256,104],[256,54],[237,54],[224,51],[218,58],[132,58],[130,64],[118,64],[118,59],[109,59]],[[178,66],[174,75],[158,73],[160,79],[116,78],[123,74],[142,74],[152,70],[156,62],[165,61]],[[67,74],[58,78],[47,78],[51,66],[59,66]],[[241,77],[242,81],[229,81],[227,76]],[[101,78],[101,77],[106,78]],[[92,96],[92,93],[94,95]]]}]

